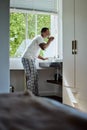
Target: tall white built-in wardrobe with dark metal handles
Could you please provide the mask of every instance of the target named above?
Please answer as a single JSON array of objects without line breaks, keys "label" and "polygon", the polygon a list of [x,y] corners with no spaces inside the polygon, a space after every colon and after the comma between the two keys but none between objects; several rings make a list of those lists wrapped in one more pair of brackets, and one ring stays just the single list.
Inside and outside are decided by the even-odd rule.
[{"label": "tall white built-in wardrobe with dark metal handles", "polygon": [[63,0],[63,58],[63,103],[87,112],[87,0]]}]

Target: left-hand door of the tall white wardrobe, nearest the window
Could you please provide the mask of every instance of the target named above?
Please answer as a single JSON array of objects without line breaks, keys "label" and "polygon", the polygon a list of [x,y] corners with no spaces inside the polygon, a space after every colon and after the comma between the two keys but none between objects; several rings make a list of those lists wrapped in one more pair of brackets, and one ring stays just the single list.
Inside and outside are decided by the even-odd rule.
[{"label": "left-hand door of the tall white wardrobe, nearest the window", "polygon": [[74,87],[75,56],[72,54],[74,35],[74,0],[63,0],[63,86]]}]

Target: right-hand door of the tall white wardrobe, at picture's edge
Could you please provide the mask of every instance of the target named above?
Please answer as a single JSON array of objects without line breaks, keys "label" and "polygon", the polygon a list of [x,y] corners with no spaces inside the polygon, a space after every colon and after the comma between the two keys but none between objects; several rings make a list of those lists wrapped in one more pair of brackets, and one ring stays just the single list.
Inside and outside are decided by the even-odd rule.
[{"label": "right-hand door of the tall white wardrobe, at picture's edge", "polygon": [[87,109],[87,0],[75,1],[76,87],[79,88],[79,103]]}]

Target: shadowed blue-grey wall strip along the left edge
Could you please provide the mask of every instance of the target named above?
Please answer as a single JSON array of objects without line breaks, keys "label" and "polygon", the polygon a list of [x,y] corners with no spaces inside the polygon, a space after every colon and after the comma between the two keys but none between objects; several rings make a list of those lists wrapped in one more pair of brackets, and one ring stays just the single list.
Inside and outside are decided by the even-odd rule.
[{"label": "shadowed blue-grey wall strip along the left edge", "polygon": [[9,0],[0,1],[0,93],[9,92]]}]

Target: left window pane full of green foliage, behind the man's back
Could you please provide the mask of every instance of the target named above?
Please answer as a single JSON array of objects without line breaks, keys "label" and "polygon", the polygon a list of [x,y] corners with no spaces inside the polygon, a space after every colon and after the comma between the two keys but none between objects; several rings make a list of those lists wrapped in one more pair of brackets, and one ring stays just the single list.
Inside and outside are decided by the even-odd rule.
[{"label": "left window pane full of green foliage, behind the man's back", "polygon": [[14,57],[21,42],[25,39],[25,14],[10,13],[10,57]]}]

